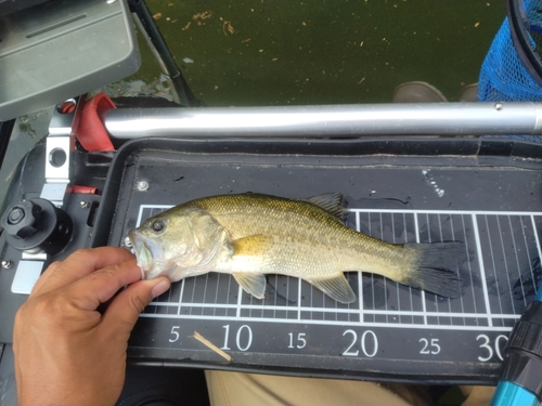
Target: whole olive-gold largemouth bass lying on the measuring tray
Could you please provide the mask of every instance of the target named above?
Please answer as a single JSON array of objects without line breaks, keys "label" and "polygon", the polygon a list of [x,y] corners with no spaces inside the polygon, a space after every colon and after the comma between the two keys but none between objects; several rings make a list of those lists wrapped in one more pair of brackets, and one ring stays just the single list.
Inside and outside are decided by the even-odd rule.
[{"label": "whole olive-gold largemouth bass lying on the measuring tray", "polygon": [[389,244],[346,227],[346,213],[340,194],[306,200],[211,196],[150,218],[128,237],[146,279],[227,273],[258,299],[264,275],[282,274],[351,303],[356,294],[345,271],[379,274],[442,297],[462,294],[455,269],[465,257],[463,243]]}]

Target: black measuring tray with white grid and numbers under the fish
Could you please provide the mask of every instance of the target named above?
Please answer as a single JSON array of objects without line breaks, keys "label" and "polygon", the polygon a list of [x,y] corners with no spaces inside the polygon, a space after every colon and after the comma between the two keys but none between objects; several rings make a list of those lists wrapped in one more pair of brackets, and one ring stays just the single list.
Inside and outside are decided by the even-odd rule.
[{"label": "black measuring tray with white grid and numbers under the fish", "polygon": [[[460,147],[469,142],[462,140]],[[541,280],[540,163],[505,156],[488,158],[486,166],[478,156],[457,158],[464,149],[453,148],[452,156],[436,158],[363,155],[386,150],[379,141],[376,146],[359,140],[300,144],[153,140],[127,145],[109,170],[94,245],[121,245],[142,221],[199,197],[254,192],[306,198],[340,192],[348,202],[346,225],[364,234],[393,244],[463,241],[466,260],[456,271],[464,294],[446,299],[378,275],[346,272],[357,294],[350,304],[284,275],[267,275],[266,297],[258,300],[230,275],[208,273],[172,284],[144,310],[129,341],[130,361],[494,383],[507,336]],[[473,146],[473,154],[480,150],[476,142]],[[139,186],[142,181],[149,188]]]}]

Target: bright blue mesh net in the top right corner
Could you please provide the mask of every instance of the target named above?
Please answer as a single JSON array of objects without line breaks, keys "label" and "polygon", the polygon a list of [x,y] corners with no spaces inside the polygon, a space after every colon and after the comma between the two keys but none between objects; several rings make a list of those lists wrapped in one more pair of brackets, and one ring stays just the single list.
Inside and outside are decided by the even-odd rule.
[{"label": "bright blue mesh net in the top right corner", "polygon": [[[526,1],[525,6],[533,27],[542,27],[542,0]],[[531,39],[532,40],[532,39]],[[529,75],[517,56],[508,18],[504,19],[481,66],[478,79],[480,102],[542,102],[542,87]],[[540,135],[516,135],[542,143]]]}]

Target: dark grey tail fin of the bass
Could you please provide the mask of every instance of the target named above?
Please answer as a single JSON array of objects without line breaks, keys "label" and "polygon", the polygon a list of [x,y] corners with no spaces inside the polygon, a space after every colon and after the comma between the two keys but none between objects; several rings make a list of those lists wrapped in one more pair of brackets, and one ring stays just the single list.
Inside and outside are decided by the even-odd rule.
[{"label": "dark grey tail fin of the bass", "polygon": [[[412,267],[402,284],[437,293],[444,298],[463,296],[459,269],[466,259],[461,241],[405,244],[405,254],[412,256]],[[406,257],[408,258],[408,257]]]}]

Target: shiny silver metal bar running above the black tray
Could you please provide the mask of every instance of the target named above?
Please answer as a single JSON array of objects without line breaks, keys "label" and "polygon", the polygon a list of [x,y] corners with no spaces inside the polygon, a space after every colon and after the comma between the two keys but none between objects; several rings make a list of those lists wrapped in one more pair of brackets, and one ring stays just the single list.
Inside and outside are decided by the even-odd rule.
[{"label": "shiny silver metal bar running above the black tray", "polygon": [[118,108],[113,139],[542,134],[540,103],[361,104],[285,107]]}]

